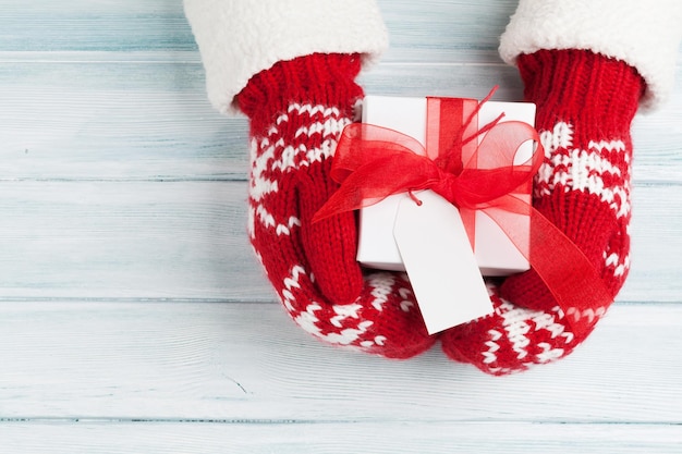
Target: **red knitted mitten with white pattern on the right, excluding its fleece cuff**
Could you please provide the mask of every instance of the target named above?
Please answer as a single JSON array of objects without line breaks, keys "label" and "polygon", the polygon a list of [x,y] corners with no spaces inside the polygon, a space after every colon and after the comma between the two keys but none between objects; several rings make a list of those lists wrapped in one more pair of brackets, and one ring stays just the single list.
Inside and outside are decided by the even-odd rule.
[{"label": "red knitted mitten with white pattern on the right, excluding its fleece cuff", "polygon": [[[546,154],[533,205],[583,250],[616,296],[630,268],[630,126],[643,81],[625,63],[583,50],[540,50],[517,64],[525,97],[537,105]],[[594,328],[608,309],[564,312],[533,270],[494,289],[492,302],[494,315],[441,340],[448,356],[494,375],[568,355],[588,334],[572,333],[570,321],[586,319]]]}]

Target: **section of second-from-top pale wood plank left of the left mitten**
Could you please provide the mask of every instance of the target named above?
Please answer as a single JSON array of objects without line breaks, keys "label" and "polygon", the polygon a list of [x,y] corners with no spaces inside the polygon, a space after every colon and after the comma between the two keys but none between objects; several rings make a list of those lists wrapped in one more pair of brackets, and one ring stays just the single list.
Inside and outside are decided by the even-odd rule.
[{"label": "section of second-from-top pale wood plank left of the left mitten", "polygon": [[245,179],[246,123],[210,109],[186,53],[51,56],[0,65],[1,179]]}]

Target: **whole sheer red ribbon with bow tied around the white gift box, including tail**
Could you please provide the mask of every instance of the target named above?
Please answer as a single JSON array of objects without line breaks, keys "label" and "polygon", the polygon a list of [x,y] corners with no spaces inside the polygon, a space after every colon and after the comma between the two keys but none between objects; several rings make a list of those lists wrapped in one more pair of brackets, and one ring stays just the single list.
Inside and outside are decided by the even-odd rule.
[{"label": "whole sheer red ribbon with bow tied around the white gift box, including tail", "polygon": [[[431,189],[460,209],[472,244],[475,212],[489,216],[547,285],[574,333],[586,333],[594,310],[610,305],[612,295],[583,251],[527,199],[513,194],[532,184],[543,163],[537,132],[523,122],[499,123],[500,115],[471,133],[483,102],[476,103],[462,123],[466,101],[428,98],[426,148],[393,130],[364,123],[346,126],[331,169],[331,177],[341,186],[313,222],[374,205],[393,194]],[[484,133],[476,145],[475,139]],[[537,143],[537,149],[528,161],[515,164],[520,146],[528,140]],[[463,161],[466,155],[470,157]],[[531,219],[529,237],[516,225],[524,219],[519,214]],[[587,309],[593,310],[592,317],[582,317]]]}]

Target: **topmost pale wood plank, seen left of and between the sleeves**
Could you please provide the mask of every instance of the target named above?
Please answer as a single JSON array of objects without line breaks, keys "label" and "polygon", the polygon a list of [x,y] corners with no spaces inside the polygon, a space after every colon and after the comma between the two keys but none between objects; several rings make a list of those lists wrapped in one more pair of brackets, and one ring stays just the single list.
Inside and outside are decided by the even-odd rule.
[{"label": "topmost pale wood plank, seen left of and between the sleeves", "polygon": [[[391,34],[388,61],[499,61],[500,33],[514,0],[380,0]],[[195,50],[181,1],[7,0],[0,49],[7,51]]]}]

